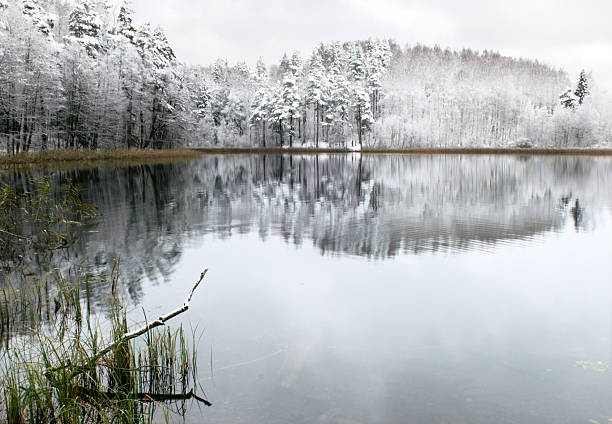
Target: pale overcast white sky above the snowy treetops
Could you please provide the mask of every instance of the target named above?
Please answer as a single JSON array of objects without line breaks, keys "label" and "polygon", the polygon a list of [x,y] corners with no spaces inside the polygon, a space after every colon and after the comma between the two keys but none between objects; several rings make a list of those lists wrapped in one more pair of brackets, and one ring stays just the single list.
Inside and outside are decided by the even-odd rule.
[{"label": "pale overcast white sky above the snowy treetops", "polygon": [[491,49],[539,59],[575,80],[586,68],[612,92],[610,0],[133,0],[138,22],[166,30],[179,60],[276,63],[321,41],[393,38],[402,46]]}]

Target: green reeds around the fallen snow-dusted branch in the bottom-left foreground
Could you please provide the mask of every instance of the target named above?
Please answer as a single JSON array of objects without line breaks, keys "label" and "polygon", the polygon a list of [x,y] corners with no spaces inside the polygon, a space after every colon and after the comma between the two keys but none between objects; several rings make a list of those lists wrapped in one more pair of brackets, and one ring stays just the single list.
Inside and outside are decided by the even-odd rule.
[{"label": "green reeds around the fallen snow-dusted branch in the bottom-left foreground", "polygon": [[196,335],[145,321],[141,336],[127,336],[111,278],[102,315],[87,306],[87,276],[2,287],[1,422],[141,423],[159,408],[180,414],[190,400],[210,404],[198,395]]}]

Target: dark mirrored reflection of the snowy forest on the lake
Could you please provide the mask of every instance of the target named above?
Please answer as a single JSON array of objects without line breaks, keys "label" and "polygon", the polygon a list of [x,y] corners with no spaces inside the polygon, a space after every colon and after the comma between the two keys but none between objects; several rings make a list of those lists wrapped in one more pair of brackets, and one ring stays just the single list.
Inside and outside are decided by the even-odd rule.
[{"label": "dark mirrored reflection of the snowy forest on the lake", "polygon": [[[101,218],[74,260],[124,276],[167,278],[189,244],[227,239],[312,243],[372,259],[489,250],[609,207],[609,158],[466,155],[207,156],[189,163],[57,171]],[[3,177],[26,190],[28,175]],[[241,253],[242,254],[242,253]],[[134,284],[132,296],[138,298]]]}]

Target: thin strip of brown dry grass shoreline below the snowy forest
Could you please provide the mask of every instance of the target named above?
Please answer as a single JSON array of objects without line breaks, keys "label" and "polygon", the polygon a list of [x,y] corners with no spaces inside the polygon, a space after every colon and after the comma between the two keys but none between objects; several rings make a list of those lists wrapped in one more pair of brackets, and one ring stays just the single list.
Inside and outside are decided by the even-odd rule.
[{"label": "thin strip of brown dry grass shoreline below the snowy forest", "polygon": [[203,155],[219,154],[268,154],[268,155],[304,155],[304,154],[346,154],[360,153],[367,155],[559,155],[559,156],[612,156],[612,148],[496,148],[496,147],[410,147],[410,148],[315,148],[315,147],[194,147],[166,150],[51,150],[47,152],[19,153],[17,155],[0,154],[0,166],[28,166],[82,163],[101,163],[107,165],[153,164],[168,161],[182,161]]}]

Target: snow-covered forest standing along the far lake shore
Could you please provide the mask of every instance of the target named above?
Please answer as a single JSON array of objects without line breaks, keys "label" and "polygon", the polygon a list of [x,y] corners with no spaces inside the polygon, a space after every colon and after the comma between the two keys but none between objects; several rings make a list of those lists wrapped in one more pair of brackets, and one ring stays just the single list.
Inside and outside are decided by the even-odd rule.
[{"label": "snow-covered forest standing along the far lake shore", "polygon": [[279,63],[181,63],[126,0],[0,0],[8,153],[174,146],[593,146],[610,100],[495,52],[331,42]]}]

